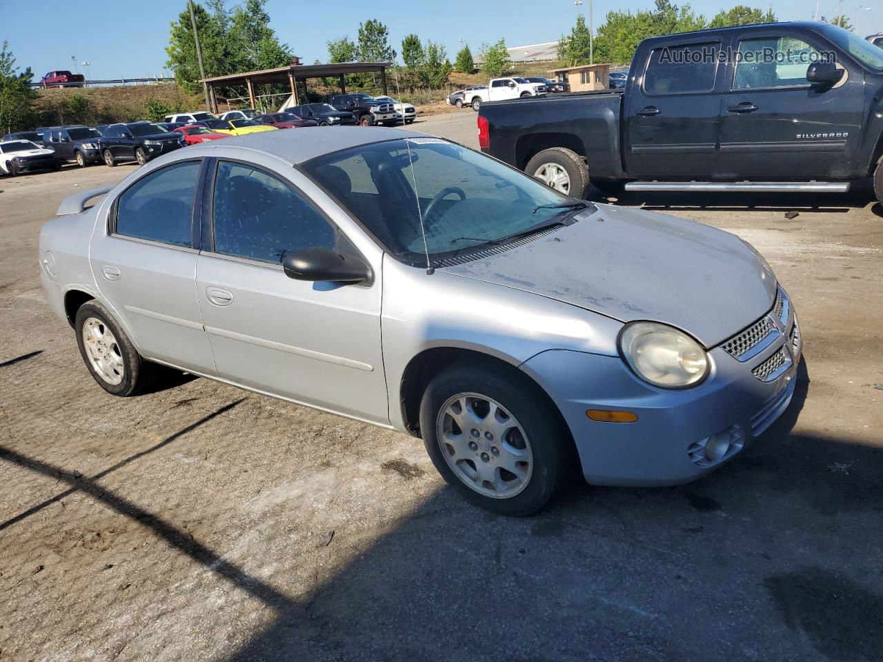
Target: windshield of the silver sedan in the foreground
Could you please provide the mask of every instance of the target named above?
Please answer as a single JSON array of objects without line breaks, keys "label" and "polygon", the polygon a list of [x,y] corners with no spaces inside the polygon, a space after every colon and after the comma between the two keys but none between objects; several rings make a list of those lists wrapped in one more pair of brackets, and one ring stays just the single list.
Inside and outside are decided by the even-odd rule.
[{"label": "windshield of the silver sedan in the foreground", "polygon": [[575,202],[489,156],[438,138],[360,145],[303,168],[389,252],[415,265],[426,263],[426,252],[430,260],[444,260],[563,219],[572,209],[537,207]]}]

